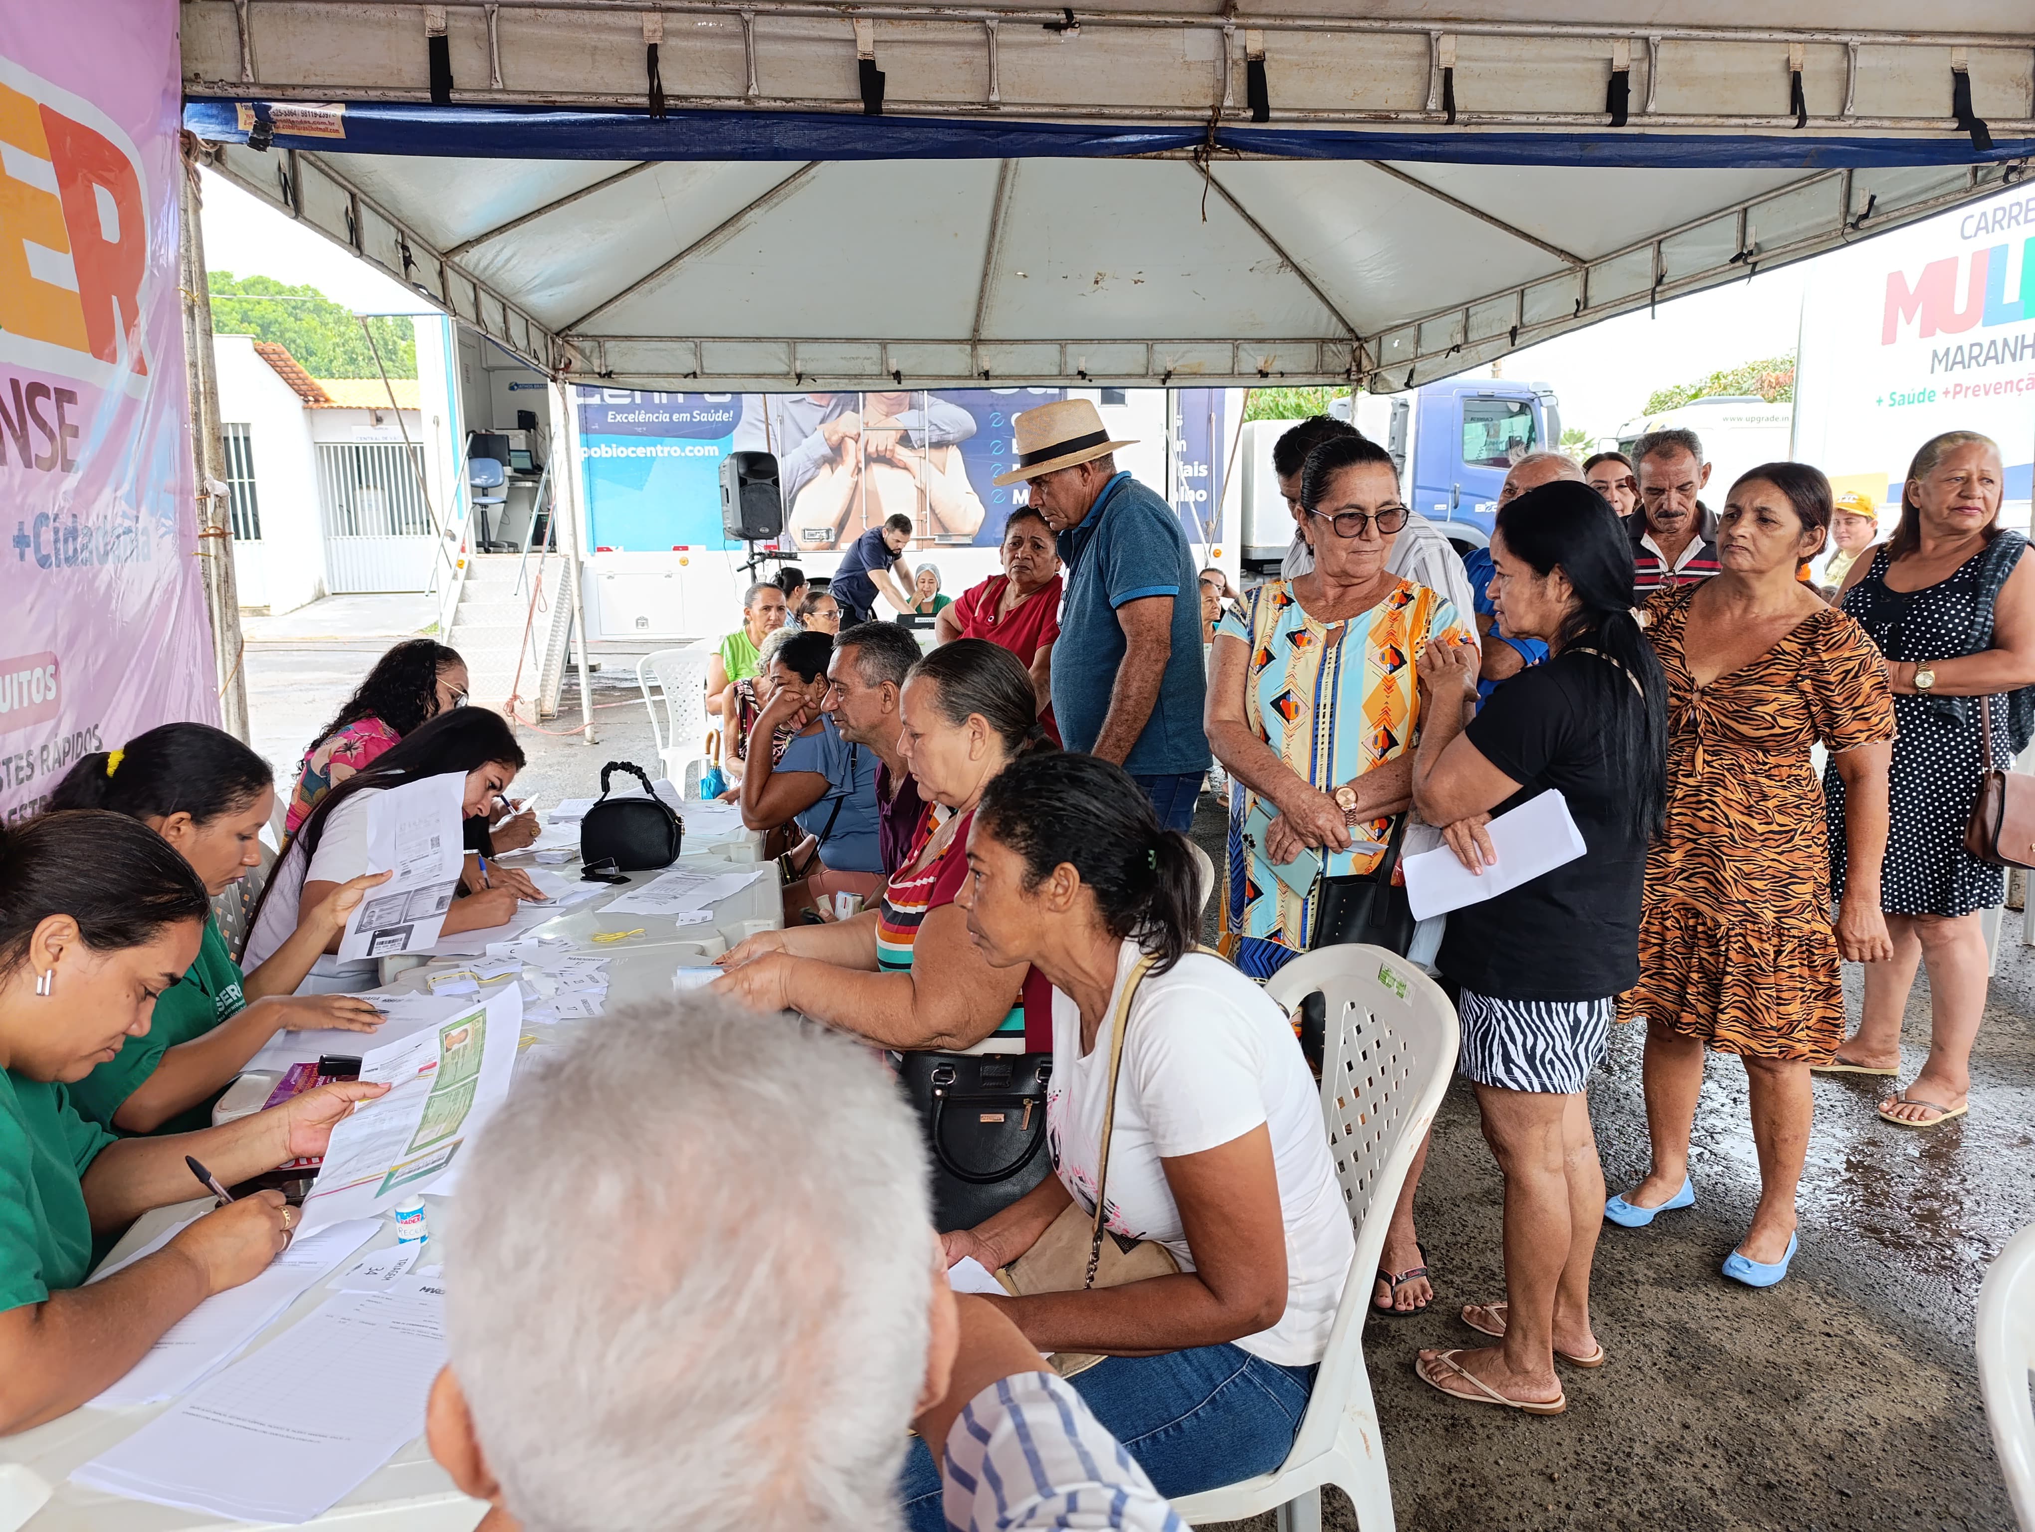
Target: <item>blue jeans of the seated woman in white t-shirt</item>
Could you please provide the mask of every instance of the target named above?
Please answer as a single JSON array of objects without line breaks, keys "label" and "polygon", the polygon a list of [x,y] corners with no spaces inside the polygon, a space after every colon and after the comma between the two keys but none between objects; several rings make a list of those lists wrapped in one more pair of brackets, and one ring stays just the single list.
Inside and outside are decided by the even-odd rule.
[{"label": "blue jeans of the seated woman in white t-shirt", "polygon": [[[1313,1367],[1280,1367],[1235,1345],[1109,1357],[1072,1379],[1152,1485],[1174,1499],[1270,1473],[1300,1434]],[[944,1532],[940,1473],[918,1436],[899,1485],[906,1526]]]}]

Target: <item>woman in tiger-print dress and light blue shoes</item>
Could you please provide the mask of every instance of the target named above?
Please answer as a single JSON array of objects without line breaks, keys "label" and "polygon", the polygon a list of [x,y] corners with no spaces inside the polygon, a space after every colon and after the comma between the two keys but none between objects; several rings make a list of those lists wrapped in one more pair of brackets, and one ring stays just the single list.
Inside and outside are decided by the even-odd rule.
[{"label": "woman in tiger-print dress and light blue shoes", "polygon": [[[1646,1021],[1652,1172],[1604,1217],[1636,1229],[1695,1202],[1689,1129],[1703,1048],[1738,1054],[1760,1204],[1724,1274],[1754,1288],[1779,1282],[1795,1255],[1809,1066],[1844,1042],[1840,954],[1872,962],[1893,950],[1880,914],[1893,694],[1866,631],[1797,580],[1829,513],[1829,480],[1815,468],[1754,468],[1726,500],[1718,574],[1646,604],[1669,684],[1669,804],[1646,859],[1640,983],[1620,1015]],[[1836,926],[1823,791],[1809,765],[1817,743],[1854,806],[1854,881]]]}]

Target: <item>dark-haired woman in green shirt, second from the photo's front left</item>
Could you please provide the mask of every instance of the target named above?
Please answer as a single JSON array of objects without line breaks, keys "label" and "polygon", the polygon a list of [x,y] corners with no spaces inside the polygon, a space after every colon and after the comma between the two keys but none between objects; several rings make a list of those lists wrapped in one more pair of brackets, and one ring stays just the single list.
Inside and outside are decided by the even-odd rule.
[{"label": "dark-haired woman in green shirt, second from the photo's front left", "polygon": [[[83,757],[57,783],[53,810],[110,808],[140,820],[220,895],[260,865],[256,836],[275,812],[269,763],[206,724],[163,724],[126,749]],[[212,1121],[212,1101],[283,1029],[372,1032],[381,1011],[354,995],[293,995],[360,895],[387,879],[356,877],[326,899],[254,973],[242,975],[206,920],[189,973],[163,991],[155,1023],[71,1086],[77,1111],[122,1133],[185,1133]]]}]

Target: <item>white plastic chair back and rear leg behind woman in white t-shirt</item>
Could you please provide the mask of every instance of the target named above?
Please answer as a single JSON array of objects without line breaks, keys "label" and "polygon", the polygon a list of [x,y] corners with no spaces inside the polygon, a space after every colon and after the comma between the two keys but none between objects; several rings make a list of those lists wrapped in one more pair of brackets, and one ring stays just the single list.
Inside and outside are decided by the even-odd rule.
[{"label": "white plastic chair back and rear leg behind woman in white t-shirt", "polygon": [[1304,952],[1266,981],[1286,1011],[1323,993],[1321,1115],[1357,1253],[1288,1461],[1329,1451],[1363,1383],[1363,1316],[1392,1204],[1455,1074],[1461,1027],[1441,985],[1382,946]]}]

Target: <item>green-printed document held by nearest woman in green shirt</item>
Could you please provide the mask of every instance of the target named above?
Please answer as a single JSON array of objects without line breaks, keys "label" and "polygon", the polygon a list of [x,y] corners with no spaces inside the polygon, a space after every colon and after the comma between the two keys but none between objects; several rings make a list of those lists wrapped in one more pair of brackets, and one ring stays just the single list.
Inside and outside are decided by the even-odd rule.
[{"label": "green-printed document held by nearest woman in green shirt", "polygon": [[509,1095],[521,1036],[521,989],[501,985],[456,1003],[438,1025],[362,1054],[360,1078],[393,1088],[332,1129],[297,1237],[431,1190]]}]

